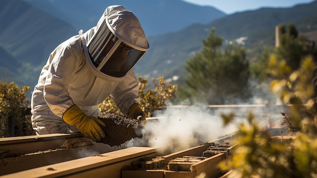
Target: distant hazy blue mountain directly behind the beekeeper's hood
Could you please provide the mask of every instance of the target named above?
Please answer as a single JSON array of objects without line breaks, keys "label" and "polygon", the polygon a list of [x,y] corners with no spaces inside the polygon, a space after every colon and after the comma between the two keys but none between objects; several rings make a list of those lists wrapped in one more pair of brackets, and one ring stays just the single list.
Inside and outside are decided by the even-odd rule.
[{"label": "distant hazy blue mountain directly behind the beekeeper's hood", "polygon": [[106,7],[122,5],[139,18],[147,36],[178,31],[192,23],[206,24],[226,15],[211,6],[197,6],[181,0],[24,1],[84,31],[97,24]]}]

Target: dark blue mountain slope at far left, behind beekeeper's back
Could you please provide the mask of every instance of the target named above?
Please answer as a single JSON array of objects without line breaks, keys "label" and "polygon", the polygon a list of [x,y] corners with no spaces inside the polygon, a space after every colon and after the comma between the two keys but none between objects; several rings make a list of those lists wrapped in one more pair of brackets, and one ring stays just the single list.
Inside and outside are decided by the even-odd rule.
[{"label": "dark blue mountain slope at far left, behind beekeeper's back", "polygon": [[51,51],[77,31],[22,1],[0,1],[0,67],[7,78],[34,86]]}]

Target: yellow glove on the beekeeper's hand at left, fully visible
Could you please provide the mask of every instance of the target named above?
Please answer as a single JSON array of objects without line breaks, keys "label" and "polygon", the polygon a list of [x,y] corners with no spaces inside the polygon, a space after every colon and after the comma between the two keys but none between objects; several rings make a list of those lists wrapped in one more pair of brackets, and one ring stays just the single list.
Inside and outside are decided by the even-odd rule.
[{"label": "yellow glove on the beekeeper's hand at left, fully visible", "polygon": [[[69,124],[76,124],[77,129],[87,138],[100,141],[106,135],[101,126],[106,124],[93,116],[87,116],[77,105],[71,106],[63,115],[63,120]],[[100,126],[101,125],[101,126]]]}]

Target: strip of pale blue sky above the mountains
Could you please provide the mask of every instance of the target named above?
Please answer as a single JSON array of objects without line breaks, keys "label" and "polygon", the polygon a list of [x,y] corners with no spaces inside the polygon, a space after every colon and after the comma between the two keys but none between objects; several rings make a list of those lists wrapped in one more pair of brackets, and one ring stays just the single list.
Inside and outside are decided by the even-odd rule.
[{"label": "strip of pale blue sky above the mountains", "polygon": [[314,0],[183,0],[196,5],[213,6],[224,13],[255,10],[261,7],[289,8],[296,4],[307,4]]}]

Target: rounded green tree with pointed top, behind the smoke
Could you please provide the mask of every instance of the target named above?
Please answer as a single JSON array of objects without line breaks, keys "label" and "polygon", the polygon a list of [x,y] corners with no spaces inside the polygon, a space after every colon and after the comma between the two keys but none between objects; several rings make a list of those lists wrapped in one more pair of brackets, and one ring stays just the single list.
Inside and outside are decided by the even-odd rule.
[{"label": "rounded green tree with pointed top, behind the smoke", "polygon": [[222,50],[222,41],[212,29],[207,39],[202,40],[202,51],[185,64],[188,92],[208,104],[233,103],[251,96],[245,49],[233,43]]}]

